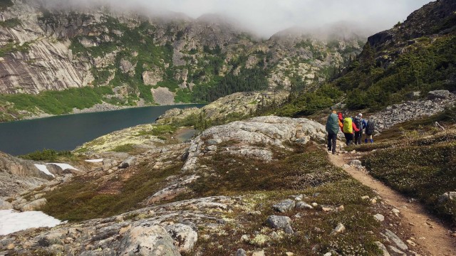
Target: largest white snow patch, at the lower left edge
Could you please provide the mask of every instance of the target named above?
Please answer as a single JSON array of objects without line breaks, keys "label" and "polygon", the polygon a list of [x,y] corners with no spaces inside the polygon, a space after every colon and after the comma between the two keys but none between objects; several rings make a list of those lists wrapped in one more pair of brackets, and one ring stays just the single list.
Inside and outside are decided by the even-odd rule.
[{"label": "largest white snow patch, at the lower left edge", "polygon": [[14,210],[0,210],[0,235],[8,235],[27,228],[53,228],[61,221],[40,211],[17,213]]}]

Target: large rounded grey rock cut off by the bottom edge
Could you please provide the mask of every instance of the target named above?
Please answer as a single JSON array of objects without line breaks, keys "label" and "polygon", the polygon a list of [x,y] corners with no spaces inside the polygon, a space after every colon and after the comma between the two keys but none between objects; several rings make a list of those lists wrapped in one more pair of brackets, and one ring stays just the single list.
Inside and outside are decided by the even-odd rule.
[{"label": "large rounded grey rock cut off by the bottom edge", "polygon": [[167,231],[159,225],[135,227],[125,233],[118,255],[180,255]]}]

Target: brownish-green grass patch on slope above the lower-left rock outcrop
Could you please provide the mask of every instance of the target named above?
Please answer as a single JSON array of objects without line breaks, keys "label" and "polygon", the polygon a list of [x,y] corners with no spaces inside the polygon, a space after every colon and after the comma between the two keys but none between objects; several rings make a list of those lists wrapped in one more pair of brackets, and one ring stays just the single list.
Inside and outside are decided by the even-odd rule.
[{"label": "brownish-green grass patch on slope above the lower-left rock outcrop", "polygon": [[[88,176],[78,176],[46,194],[48,203],[43,212],[60,220],[80,221],[106,218],[141,208],[141,202],[163,186],[165,178],[179,174],[182,164],[166,169],[152,170],[147,163],[126,181],[113,178],[100,181]],[[118,193],[103,193],[113,186],[120,186]]]}]

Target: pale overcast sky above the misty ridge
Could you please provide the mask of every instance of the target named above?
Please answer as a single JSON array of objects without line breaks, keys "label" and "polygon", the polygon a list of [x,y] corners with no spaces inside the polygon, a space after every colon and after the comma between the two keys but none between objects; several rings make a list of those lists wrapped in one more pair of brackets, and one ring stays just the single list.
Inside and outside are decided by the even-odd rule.
[{"label": "pale overcast sky above the misty ridge", "polygon": [[[62,3],[65,0],[50,0]],[[67,0],[68,1],[68,0]],[[71,0],[75,3],[90,0]],[[106,0],[108,1],[108,0]],[[373,34],[391,28],[430,0],[110,0],[123,8],[141,6],[150,11],[166,9],[197,18],[223,14],[243,26],[271,36],[285,28],[316,28],[339,21],[356,23]]]}]

